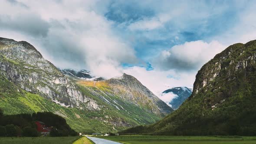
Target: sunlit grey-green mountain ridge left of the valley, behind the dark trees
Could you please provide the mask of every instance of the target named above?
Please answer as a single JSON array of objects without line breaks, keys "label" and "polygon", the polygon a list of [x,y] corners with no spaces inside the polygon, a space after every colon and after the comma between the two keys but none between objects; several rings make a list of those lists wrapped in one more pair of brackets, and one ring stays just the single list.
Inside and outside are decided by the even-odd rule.
[{"label": "sunlit grey-green mountain ridge left of the valley, behind the dark trees", "polygon": [[173,111],[130,75],[112,87],[113,79],[97,82],[79,72],[63,73],[29,43],[0,38],[0,108],[5,114],[49,111],[76,131],[106,133],[154,123]]}]

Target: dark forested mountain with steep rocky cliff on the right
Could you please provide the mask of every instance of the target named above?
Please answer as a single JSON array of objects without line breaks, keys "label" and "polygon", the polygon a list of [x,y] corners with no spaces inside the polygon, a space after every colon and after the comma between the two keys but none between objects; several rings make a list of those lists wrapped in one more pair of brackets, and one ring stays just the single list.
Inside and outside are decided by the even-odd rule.
[{"label": "dark forested mountain with steep rocky cliff on the right", "polygon": [[256,135],[256,40],[226,48],[198,71],[192,94],[161,121],[123,134]]}]

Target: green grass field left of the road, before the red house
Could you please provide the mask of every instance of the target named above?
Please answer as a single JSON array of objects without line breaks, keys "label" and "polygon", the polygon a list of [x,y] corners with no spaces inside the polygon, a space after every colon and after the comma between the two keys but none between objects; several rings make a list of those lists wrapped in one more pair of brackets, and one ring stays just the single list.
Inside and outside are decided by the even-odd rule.
[{"label": "green grass field left of the road, before the red house", "polygon": [[[0,137],[0,144],[72,144],[80,137]],[[83,137],[82,137],[83,138]],[[82,143],[76,143],[82,144]],[[93,143],[84,143],[93,144]]]}]

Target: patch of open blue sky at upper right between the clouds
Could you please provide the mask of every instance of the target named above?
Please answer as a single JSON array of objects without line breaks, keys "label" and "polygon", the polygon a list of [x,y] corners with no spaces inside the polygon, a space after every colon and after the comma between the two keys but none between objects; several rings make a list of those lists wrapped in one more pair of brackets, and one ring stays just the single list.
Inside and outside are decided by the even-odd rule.
[{"label": "patch of open blue sky at upper right between the clouds", "polygon": [[[151,1],[150,4],[137,6],[134,3],[113,2],[104,16],[115,22],[113,29],[118,31],[118,35],[123,36],[124,39],[133,40],[132,44],[136,55],[145,61],[149,61],[162,50],[169,49],[174,45],[196,40],[211,41],[214,36],[236,26],[239,20],[237,13],[244,8],[243,5],[238,6],[223,0],[206,0],[200,1],[200,3],[193,1],[192,4],[189,1],[181,2],[186,3],[185,5],[192,5],[187,10],[184,9],[188,6],[184,8],[182,4],[181,7],[175,8],[180,1],[168,0],[161,4],[158,1]],[[148,7],[149,5],[150,7]],[[162,9],[164,5],[169,6],[166,7],[167,10]],[[172,8],[174,9],[171,10]],[[159,14],[170,14],[171,16],[175,11],[180,11],[180,13],[162,23],[162,26],[149,29],[145,27],[129,29],[129,26],[134,23],[154,18],[158,21]],[[190,11],[194,12],[190,14]]]}]

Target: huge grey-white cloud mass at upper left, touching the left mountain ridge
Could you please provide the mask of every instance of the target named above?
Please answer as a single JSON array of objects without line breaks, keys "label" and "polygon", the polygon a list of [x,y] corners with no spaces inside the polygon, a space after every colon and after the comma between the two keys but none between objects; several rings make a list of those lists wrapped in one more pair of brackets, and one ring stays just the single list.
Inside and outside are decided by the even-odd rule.
[{"label": "huge grey-white cloud mass at upper left, touching the left mountain ridge", "polygon": [[3,2],[1,36],[12,33],[7,38],[27,40],[57,67],[89,69],[111,78],[120,75],[122,62],[137,61],[129,42],[119,37],[112,30],[113,22],[102,15],[100,5],[105,2],[24,0],[29,9],[20,4],[16,0]]}]

